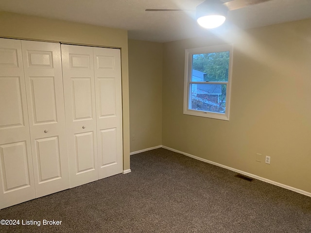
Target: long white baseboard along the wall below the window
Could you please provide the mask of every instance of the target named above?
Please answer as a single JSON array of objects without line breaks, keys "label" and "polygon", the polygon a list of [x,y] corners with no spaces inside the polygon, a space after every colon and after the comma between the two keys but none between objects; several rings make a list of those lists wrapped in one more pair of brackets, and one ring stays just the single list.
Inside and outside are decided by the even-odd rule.
[{"label": "long white baseboard along the wall below the window", "polygon": [[277,182],[275,182],[275,181],[271,181],[271,180],[262,178],[262,177],[260,177],[260,176],[253,175],[253,174],[251,174],[251,173],[248,173],[248,172],[245,172],[245,171],[241,171],[241,170],[238,170],[238,169],[235,169],[235,168],[232,168],[232,167],[229,167],[229,166],[225,166],[225,165],[222,165],[222,164],[218,164],[218,163],[209,161],[209,160],[207,160],[207,159],[202,159],[202,158],[197,157],[197,156],[194,156],[194,155],[192,155],[192,154],[188,154],[188,153],[185,153],[185,152],[182,152],[182,151],[179,151],[179,150],[175,150],[175,149],[172,149],[172,148],[169,148],[169,147],[166,147],[166,146],[162,146],[162,148],[167,149],[167,150],[172,150],[172,151],[174,151],[174,152],[177,152],[177,153],[180,153],[180,154],[189,156],[189,157],[191,157],[191,158],[194,158],[194,159],[197,159],[197,160],[206,162],[206,163],[208,163],[208,164],[212,164],[212,165],[215,165],[215,166],[220,166],[220,167],[223,167],[223,168],[225,168],[225,169],[228,169],[228,170],[231,170],[231,171],[234,171],[234,172],[243,174],[243,175],[245,175],[245,176],[252,177],[252,178],[257,179],[257,180],[259,180],[259,181],[263,181],[263,182],[266,182],[266,183],[271,183],[271,184],[274,184],[274,185],[276,185],[276,186],[279,186],[279,187],[282,187],[282,188],[286,188],[286,189],[292,190],[292,191],[294,191],[294,192],[296,192],[296,193],[300,193],[300,194],[303,194],[303,195],[306,195],[306,196],[311,197],[311,193],[306,192],[306,191],[303,191],[303,190],[301,190],[301,189],[297,189],[297,188],[294,188],[294,187],[291,187],[291,186],[288,186],[288,185],[285,185],[285,184],[282,184],[282,183],[277,183]]}]

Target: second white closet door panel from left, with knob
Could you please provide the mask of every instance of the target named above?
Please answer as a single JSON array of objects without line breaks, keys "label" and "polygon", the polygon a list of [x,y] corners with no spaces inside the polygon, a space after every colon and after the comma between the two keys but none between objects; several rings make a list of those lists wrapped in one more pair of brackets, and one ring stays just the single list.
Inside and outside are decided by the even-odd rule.
[{"label": "second white closet door panel from left, with knob", "polygon": [[69,188],[60,44],[22,41],[35,192]]}]

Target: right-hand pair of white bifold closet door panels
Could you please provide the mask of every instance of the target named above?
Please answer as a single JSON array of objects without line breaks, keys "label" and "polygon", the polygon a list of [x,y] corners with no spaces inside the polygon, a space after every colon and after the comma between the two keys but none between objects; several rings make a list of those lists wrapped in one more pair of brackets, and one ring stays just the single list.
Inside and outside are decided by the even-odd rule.
[{"label": "right-hand pair of white bifold closet door panels", "polygon": [[62,45],[70,187],[122,172],[120,50]]}]

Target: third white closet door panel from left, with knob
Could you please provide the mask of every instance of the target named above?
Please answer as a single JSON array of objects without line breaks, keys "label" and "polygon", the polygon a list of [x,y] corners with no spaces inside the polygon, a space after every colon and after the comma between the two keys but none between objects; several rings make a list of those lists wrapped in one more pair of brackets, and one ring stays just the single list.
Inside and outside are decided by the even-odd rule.
[{"label": "third white closet door panel from left, with knob", "polygon": [[93,48],[62,45],[70,187],[98,180]]}]

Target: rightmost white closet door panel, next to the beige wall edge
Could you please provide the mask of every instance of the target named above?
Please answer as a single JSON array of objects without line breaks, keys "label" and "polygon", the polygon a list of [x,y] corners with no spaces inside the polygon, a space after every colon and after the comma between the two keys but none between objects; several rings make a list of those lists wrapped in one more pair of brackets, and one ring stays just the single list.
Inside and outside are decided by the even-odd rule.
[{"label": "rightmost white closet door panel, next to the beige wall edge", "polygon": [[93,48],[99,178],[122,172],[121,53]]}]

